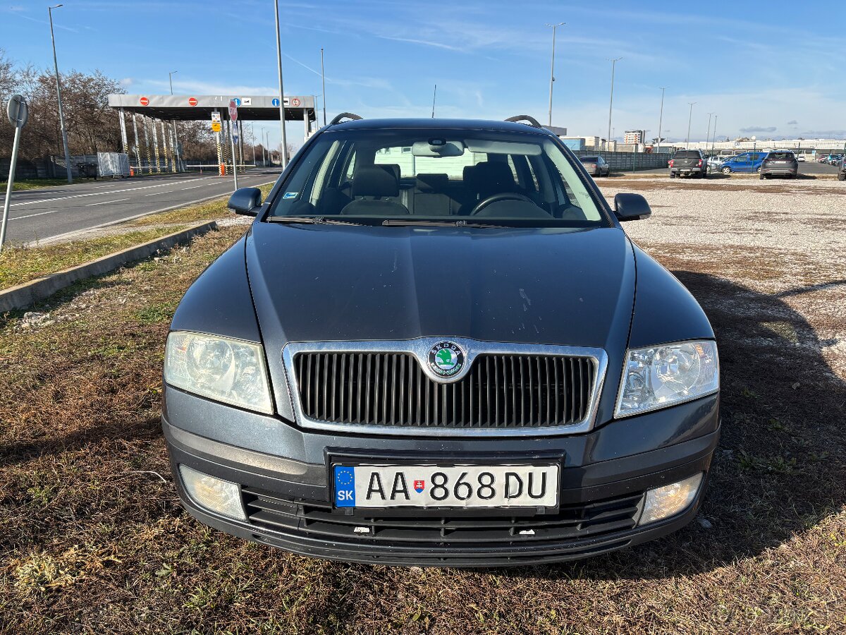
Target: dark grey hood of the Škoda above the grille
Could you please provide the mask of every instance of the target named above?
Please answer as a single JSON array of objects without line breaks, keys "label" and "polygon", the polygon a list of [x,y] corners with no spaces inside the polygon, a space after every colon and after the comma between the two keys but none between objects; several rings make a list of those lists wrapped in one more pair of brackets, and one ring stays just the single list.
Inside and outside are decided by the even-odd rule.
[{"label": "dark grey hood of the \u0160koda above the grille", "polygon": [[616,228],[256,223],[246,259],[270,350],[421,336],[605,348],[628,334],[634,301]]}]

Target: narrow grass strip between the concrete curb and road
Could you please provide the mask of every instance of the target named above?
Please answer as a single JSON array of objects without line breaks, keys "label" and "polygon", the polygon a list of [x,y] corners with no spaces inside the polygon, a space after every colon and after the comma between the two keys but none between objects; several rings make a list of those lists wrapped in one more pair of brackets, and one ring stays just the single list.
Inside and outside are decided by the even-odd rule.
[{"label": "narrow grass strip between the concrete curb and road", "polygon": [[42,247],[6,247],[0,252],[0,289],[90,262],[114,251],[173,234],[180,229],[185,229],[185,226],[152,227]]}]

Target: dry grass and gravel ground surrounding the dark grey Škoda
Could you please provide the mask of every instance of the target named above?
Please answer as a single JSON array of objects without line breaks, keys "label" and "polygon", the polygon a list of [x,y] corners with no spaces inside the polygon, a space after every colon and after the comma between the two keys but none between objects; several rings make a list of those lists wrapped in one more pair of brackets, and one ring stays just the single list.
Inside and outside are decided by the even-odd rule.
[{"label": "dry grass and gravel ground surrounding the dark grey \u0160koda", "polygon": [[171,483],[162,348],[229,227],[0,320],[0,632],[846,632],[846,190],[601,185],[654,204],[626,229],[717,332],[722,440],[689,527],[498,571],[310,560],[202,527]]}]

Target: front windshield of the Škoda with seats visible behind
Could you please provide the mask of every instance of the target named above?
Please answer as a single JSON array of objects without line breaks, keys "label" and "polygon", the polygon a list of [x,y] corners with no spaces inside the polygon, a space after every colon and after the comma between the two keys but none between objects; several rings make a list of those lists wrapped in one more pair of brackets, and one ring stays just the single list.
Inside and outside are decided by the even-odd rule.
[{"label": "front windshield of the \u0160koda with seats visible behind", "polygon": [[295,166],[266,220],[286,217],[389,225],[608,225],[555,141],[494,130],[324,132]]}]

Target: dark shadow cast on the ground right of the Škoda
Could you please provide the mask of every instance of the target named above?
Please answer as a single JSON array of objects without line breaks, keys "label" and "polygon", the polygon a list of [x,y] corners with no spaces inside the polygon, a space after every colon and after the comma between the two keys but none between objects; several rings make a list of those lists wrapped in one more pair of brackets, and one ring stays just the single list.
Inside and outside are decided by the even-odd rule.
[{"label": "dark shadow cast on the ground right of the \u0160koda", "polygon": [[[720,351],[722,438],[699,516],[666,538],[588,560],[504,570],[526,577],[663,578],[710,572],[805,533],[846,504],[846,384],[778,295],[674,271],[708,314]],[[826,284],[843,284],[843,281]]]}]

